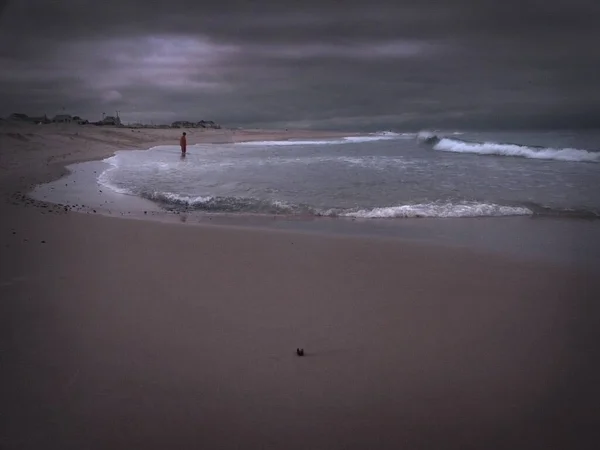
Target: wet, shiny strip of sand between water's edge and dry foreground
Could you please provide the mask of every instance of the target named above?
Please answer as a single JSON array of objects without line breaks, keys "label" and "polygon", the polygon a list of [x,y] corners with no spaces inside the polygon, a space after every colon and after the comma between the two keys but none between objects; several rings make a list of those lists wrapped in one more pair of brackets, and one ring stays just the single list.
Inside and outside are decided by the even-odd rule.
[{"label": "wet, shiny strip of sand between water's edge and dry foreground", "polygon": [[[142,197],[113,192],[97,182],[104,162],[79,163],[67,177],[38,185],[19,202],[45,202],[49,210],[73,211],[192,226],[226,226],[243,231],[259,228],[321,236],[358,236],[416,241],[422,245],[466,248],[518,260],[600,268],[600,222],[587,218],[502,216],[467,218],[352,218],[313,215],[253,214],[169,209]],[[64,183],[64,185],[63,185]],[[68,185],[68,186],[67,186]],[[50,202],[50,203],[48,203]],[[561,236],[560,239],[554,239]],[[567,239],[571,236],[570,239]],[[554,242],[553,242],[554,241]]]}]

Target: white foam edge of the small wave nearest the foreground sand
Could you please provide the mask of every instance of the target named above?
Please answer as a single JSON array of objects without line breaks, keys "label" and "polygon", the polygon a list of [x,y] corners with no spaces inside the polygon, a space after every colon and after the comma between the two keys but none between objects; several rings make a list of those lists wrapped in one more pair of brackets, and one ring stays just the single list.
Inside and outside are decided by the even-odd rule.
[{"label": "white foam edge of the small wave nearest the foreground sand", "polygon": [[[423,203],[383,208],[362,209],[337,214],[342,217],[374,218],[410,218],[410,217],[498,217],[523,216],[533,212],[528,208],[501,206],[491,203]],[[325,215],[333,215],[328,211]]]}]

